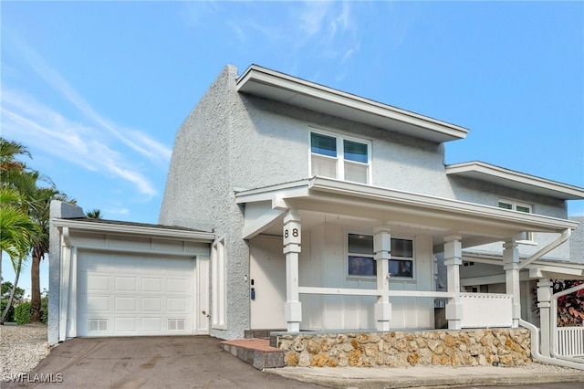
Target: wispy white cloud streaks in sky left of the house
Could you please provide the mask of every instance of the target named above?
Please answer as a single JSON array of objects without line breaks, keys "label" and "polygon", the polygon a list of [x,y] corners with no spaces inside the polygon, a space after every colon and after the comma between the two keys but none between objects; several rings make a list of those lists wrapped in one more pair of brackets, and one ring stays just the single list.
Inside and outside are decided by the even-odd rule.
[{"label": "wispy white cloud streaks in sky left of the house", "polygon": [[[44,58],[23,41],[11,37],[11,48],[26,68],[54,89],[81,113],[81,121],[30,97],[20,89],[2,88],[0,101],[2,130],[6,138],[26,139],[57,159],[75,163],[90,171],[118,177],[151,198],[157,190],[141,173],[136,159],[146,166],[165,169],[172,150],[147,133],[125,128],[107,120],[94,110]],[[130,161],[130,156],[133,161]]]}]

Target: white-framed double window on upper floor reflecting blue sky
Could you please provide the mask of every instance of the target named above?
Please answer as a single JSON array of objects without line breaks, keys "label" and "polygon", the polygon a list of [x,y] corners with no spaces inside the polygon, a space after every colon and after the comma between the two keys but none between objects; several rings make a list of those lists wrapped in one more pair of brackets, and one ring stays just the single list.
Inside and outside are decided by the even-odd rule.
[{"label": "white-framed double window on upper floor reflecting blue sky", "polygon": [[310,132],[312,175],[369,184],[370,142]]}]

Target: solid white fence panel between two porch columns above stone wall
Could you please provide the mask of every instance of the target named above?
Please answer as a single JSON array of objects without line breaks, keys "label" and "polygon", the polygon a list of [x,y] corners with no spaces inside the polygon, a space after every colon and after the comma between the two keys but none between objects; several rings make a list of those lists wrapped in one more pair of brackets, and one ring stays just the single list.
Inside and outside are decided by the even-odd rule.
[{"label": "solid white fence panel between two porch columns above stone wall", "polygon": [[462,328],[511,327],[513,295],[496,293],[461,293]]}]

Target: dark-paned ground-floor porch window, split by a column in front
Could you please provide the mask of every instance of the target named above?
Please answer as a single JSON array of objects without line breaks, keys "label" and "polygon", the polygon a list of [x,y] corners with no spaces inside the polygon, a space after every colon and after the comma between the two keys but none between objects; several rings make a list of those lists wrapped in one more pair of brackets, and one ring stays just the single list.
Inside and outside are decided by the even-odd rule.
[{"label": "dark-paned ground-floor porch window, split by a column in front", "polygon": [[[349,234],[348,274],[352,277],[375,277],[377,264],[374,259],[373,237]],[[391,277],[413,279],[413,240],[391,238]]]}]

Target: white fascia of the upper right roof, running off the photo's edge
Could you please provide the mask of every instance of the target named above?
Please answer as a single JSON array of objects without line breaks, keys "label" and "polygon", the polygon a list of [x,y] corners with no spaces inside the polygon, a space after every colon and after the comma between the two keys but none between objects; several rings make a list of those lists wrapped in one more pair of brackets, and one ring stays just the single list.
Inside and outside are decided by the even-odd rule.
[{"label": "white fascia of the upper right roof, running off the photo's edge", "polygon": [[475,171],[494,175],[498,178],[503,178],[509,181],[515,181],[521,184],[528,184],[538,186],[550,191],[556,191],[565,195],[572,195],[584,199],[584,188],[575,185],[558,183],[557,181],[547,180],[546,178],[537,177],[535,175],[519,173],[504,167],[496,166],[490,163],[481,161],[471,161],[466,163],[448,164],[446,167],[446,174],[457,174],[468,171]]}]

